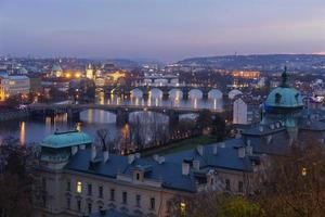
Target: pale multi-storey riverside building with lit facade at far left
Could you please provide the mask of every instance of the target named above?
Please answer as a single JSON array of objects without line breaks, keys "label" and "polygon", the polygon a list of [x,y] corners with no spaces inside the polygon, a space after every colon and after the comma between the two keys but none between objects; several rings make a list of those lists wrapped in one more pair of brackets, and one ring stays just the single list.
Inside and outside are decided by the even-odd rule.
[{"label": "pale multi-storey riverside building with lit facade at far left", "polygon": [[27,94],[30,91],[30,80],[27,76],[9,76],[9,94]]}]

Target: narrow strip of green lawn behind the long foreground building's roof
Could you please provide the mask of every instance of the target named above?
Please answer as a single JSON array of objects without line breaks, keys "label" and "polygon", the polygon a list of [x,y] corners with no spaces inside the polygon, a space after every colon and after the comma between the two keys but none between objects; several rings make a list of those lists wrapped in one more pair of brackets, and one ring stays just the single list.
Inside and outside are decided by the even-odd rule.
[{"label": "narrow strip of green lawn behind the long foreground building's roof", "polygon": [[177,153],[177,152],[181,152],[184,150],[191,150],[194,149],[197,145],[206,145],[206,144],[212,144],[217,142],[217,138],[214,136],[211,135],[203,135],[203,136],[198,136],[198,137],[194,137],[194,138],[190,138],[190,139],[185,139],[179,142],[174,142],[161,148],[155,148],[152,150],[146,150],[141,152],[142,156],[151,156],[154,154],[158,154],[158,155],[168,155],[171,153]]}]

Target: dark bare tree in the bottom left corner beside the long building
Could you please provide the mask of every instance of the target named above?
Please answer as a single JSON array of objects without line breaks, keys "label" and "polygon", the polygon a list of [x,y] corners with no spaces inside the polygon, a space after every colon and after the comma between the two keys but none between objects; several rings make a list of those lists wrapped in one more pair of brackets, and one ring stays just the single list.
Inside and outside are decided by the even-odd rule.
[{"label": "dark bare tree in the bottom left corner beside the long building", "polygon": [[0,145],[0,210],[4,216],[31,216],[32,174],[28,166],[29,152],[14,140]]}]

